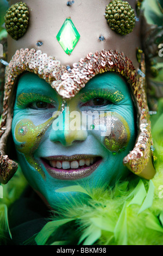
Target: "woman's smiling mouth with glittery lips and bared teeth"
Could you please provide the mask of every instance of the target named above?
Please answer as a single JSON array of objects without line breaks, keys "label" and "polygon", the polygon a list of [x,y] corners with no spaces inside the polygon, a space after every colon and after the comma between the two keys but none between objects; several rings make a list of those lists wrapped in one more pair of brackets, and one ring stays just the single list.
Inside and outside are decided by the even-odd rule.
[{"label": "woman's smiling mouth with glittery lips and bared teeth", "polygon": [[56,179],[74,180],[90,175],[102,161],[101,156],[73,155],[41,158],[47,172]]}]

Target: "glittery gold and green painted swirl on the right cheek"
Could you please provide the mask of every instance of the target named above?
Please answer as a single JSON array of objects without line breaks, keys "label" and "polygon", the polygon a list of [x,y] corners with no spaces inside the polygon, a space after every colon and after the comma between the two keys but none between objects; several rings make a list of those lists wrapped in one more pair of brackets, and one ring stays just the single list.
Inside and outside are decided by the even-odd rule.
[{"label": "glittery gold and green painted swirl on the right cheek", "polygon": [[[130,140],[130,130],[127,121],[116,112],[108,112],[100,116],[101,130],[105,131],[103,139],[106,149],[113,155],[126,150]],[[95,127],[97,120],[95,120]]]}]

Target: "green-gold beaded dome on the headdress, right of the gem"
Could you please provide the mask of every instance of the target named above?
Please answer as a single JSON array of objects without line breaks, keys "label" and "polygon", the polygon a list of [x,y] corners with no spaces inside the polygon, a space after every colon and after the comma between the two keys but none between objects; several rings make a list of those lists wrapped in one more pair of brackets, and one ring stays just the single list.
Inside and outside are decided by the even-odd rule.
[{"label": "green-gold beaded dome on the headdress, right of the gem", "polygon": [[112,31],[121,35],[131,33],[135,27],[135,11],[128,2],[111,1],[106,5],[105,18]]}]

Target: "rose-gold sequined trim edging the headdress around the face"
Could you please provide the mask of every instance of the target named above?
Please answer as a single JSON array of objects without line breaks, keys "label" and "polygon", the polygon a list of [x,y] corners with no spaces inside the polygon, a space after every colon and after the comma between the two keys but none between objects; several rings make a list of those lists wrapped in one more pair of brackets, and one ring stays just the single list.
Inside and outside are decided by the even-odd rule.
[{"label": "rose-gold sequined trim edging the headdress around the face", "polygon": [[[24,71],[34,72],[40,78],[48,82],[52,88],[64,99],[71,99],[85,84],[95,75],[106,71],[117,72],[124,76],[130,84],[137,103],[139,114],[138,136],[135,147],[123,159],[123,164],[135,174],[140,174],[148,163],[152,145],[151,123],[149,121],[149,111],[145,93],[145,61],[141,61],[141,72],[136,72],[131,60],[118,51],[101,51],[95,54],[89,53],[86,58],[81,58],[78,63],[74,63],[71,69],[67,70],[60,62],[47,56],[41,51],[29,50],[28,48],[17,50],[12,57],[5,72],[5,90],[3,102],[2,123],[0,128],[0,138],[5,133],[9,113],[9,99],[11,89],[15,84],[15,78]],[[9,159],[5,159],[9,161]],[[4,156],[0,156],[1,171],[0,176],[7,179],[7,172],[4,164]]]}]

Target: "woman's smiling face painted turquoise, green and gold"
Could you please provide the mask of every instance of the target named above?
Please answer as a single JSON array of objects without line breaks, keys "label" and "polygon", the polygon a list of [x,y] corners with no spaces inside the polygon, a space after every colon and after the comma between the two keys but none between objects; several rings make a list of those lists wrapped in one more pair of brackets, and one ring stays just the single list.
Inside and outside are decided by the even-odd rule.
[{"label": "woman's smiling face painted turquoise, green and gold", "polygon": [[[118,74],[105,72],[63,100],[37,75],[24,74],[18,80],[12,136],[29,184],[52,208],[65,200],[58,188],[113,185],[129,174],[122,161],[136,137],[128,86]],[[79,194],[66,193],[71,196]]]}]

